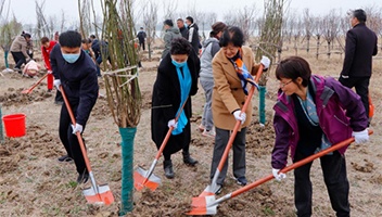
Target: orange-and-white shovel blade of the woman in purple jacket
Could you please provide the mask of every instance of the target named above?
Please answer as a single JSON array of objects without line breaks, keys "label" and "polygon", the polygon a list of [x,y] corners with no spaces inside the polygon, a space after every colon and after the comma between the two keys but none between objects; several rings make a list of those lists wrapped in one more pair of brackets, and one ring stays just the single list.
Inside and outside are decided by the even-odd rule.
[{"label": "orange-and-white shovel blade of the woman in purple jacket", "polygon": [[189,216],[203,216],[217,214],[215,195],[198,196],[192,199],[191,210],[186,213]]}]

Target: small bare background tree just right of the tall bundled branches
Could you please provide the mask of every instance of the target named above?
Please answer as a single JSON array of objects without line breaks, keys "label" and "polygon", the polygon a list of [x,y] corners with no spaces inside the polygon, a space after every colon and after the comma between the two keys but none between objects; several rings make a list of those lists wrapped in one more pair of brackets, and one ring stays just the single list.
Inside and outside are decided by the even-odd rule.
[{"label": "small bare background tree just right of the tall bundled branches", "polygon": [[152,43],[155,39],[155,27],[157,23],[157,2],[154,0],[148,0],[143,8],[143,24],[147,31],[147,44],[149,50],[149,61],[151,61]]}]

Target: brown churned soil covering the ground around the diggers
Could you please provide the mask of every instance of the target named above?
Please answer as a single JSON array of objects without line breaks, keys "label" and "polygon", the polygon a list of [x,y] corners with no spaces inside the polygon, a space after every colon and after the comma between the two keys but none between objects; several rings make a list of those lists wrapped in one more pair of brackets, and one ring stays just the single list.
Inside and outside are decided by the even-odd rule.
[{"label": "brown churned soil covering the ground around the diggers", "polygon": [[[290,52],[290,53],[289,53]],[[155,58],[157,59],[158,52]],[[294,54],[286,51],[283,55]],[[300,51],[306,58],[315,74],[338,76],[342,67],[342,56],[334,55],[315,59],[314,53]],[[158,61],[148,62],[143,53],[143,68],[139,82],[142,92],[142,115],[135,139],[135,166],[149,169],[156,149],[150,136],[150,108],[152,85],[156,76]],[[2,55],[1,55],[2,56]],[[381,56],[381,55],[379,55]],[[10,60],[10,62],[13,62]],[[1,64],[3,65],[3,64]],[[353,144],[346,153],[349,201],[353,216],[382,216],[382,151],[379,127],[382,123],[382,60],[374,60],[374,74],[371,79],[371,97],[375,115],[371,128],[374,135],[367,144]],[[42,74],[40,75],[42,76]],[[21,91],[30,87],[38,78],[24,78],[16,73],[0,77],[0,103],[2,114],[26,114],[26,136],[5,138],[0,145],[0,216],[117,216],[120,201],[120,137],[110,114],[105,98],[100,98],[91,113],[84,133],[94,176],[100,183],[107,182],[115,203],[110,206],[88,205],[77,186],[74,164],[56,161],[64,154],[58,137],[60,106],[53,103],[55,92],[47,92],[43,81],[30,94]],[[103,80],[99,79],[101,95],[105,95]],[[276,100],[278,81],[270,72],[267,93],[267,124],[258,124],[257,95],[254,97],[253,124],[247,130],[246,165],[247,179],[256,181],[270,175],[270,153],[275,133],[271,125],[272,105]],[[162,159],[154,174],[162,184],[154,192],[135,191],[135,209],[127,216],[184,216],[190,210],[191,199],[198,196],[208,184],[209,166],[213,153],[213,139],[201,136],[198,126],[201,122],[204,94],[200,88],[193,98],[191,154],[200,163],[189,167],[182,163],[181,154],[173,157],[176,177],[166,179]],[[231,158],[229,158],[231,163]],[[314,184],[314,216],[334,216],[323,183],[319,161],[311,168]],[[239,189],[229,167],[224,191],[217,197]],[[231,200],[221,203],[217,216],[294,216],[293,173],[282,182],[269,181]]]}]

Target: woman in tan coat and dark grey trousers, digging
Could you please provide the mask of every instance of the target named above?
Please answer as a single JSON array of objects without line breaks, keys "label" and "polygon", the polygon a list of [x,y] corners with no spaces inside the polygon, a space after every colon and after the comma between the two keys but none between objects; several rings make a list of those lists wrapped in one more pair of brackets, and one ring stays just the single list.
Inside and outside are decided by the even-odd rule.
[{"label": "woman in tan coat and dark grey trousers, digging", "polygon": [[[213,59],[214,89],[212,97],[212,112],[215,125],[215,145],[211,165],[211,179],[220,163],[222,153],[227,146],[231,131],[237,122],[241,127],[232,143],[233,151],[233,177],[239,186],[246,184],[245,178],[245,133],[246,127],[252,119],[252,104],[250,102],[245,113],[241,113],[247,97],[246,81],[243,75],[251,77],[256,75],[260,64],[267,69],[270,60],[263,56],[260,64],[254,62],[252,49],[243,46],[243,31],[237,26],[226,28],[219,40],[221,49]],[[217,177],[216,194],[221,192],[228,169],[228,159],[225,162],[219,177]]]}]

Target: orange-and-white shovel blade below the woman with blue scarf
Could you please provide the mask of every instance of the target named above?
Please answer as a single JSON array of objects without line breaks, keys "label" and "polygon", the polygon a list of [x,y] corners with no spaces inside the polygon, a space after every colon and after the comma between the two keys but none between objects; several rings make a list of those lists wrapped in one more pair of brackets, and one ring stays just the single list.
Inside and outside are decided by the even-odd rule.
[{"label": "orange-and-white shovel blade below the woman with blue scarf", "polygon": [[151,191],[155,191],[155,189],[161,184],[161,178],[149,173],[141,167],[138,167],[133,173],[133,187],[140,191],[144,187],[149,188]]}]

